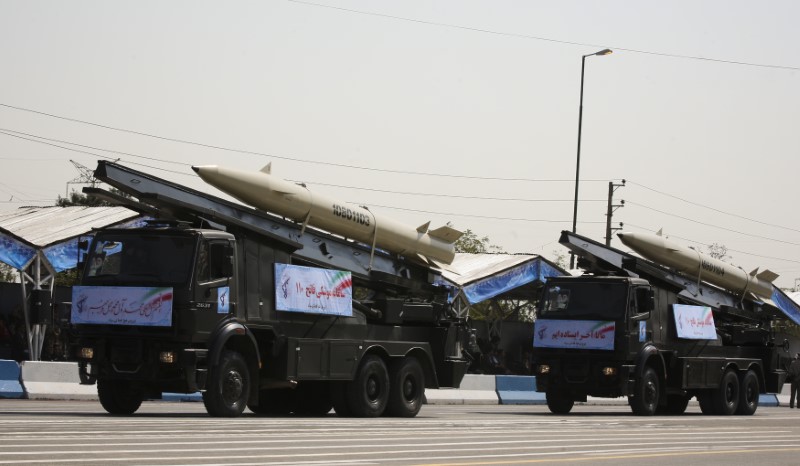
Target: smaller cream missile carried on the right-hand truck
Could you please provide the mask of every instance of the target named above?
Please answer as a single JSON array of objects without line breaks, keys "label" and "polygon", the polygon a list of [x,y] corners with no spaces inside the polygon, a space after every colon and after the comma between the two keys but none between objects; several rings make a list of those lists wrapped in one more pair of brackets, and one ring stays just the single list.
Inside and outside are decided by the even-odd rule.
[{"label": "smaller cream missile carried on the right-hand truck", "polygon": [[618,233],[617,236],[625,246],[642,257],[671,267],[695,280],[742,295],[753,293],[762,298],[772,298],[772,282],[778,275],[770,270],[759,273],[755,269],[748,274],[741,268],[652,233]]}]

